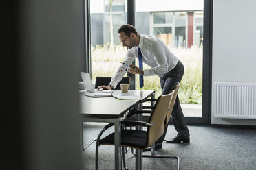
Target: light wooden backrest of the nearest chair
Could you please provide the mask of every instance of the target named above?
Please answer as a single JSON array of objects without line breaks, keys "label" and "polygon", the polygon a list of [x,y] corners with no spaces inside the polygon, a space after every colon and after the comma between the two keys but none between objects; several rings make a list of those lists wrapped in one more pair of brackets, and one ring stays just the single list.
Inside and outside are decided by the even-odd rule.
[{"label": "light wooden backrest of the nearest chair", "polygon": [[158,140],[158,138],[160,138],[164,133],[164,120],[166,119],[167,110],[169,108],[173,93],[158,97],[156,104],[153,107],[153,112],[149,118],[149,123],[153,123],[154,125],[148,127],[147,130],[147,147],[156,142],[156,140]]}]

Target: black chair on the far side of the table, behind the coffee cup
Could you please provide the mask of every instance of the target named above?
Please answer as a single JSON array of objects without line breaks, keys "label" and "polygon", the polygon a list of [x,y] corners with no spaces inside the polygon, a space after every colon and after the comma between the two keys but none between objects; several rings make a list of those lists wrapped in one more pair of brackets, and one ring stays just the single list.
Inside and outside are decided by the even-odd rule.
[{"label": "black chair on the far side of the table, behind the coffee cup", "polygon": [[[98,86],[107,86],[109,85],[109,83],[111,82],[111,77],[96,77],[96,81],[95,81],[95,88],[98,88]],[[130,77],[123,77],[122,80],[116,85],[116,90],[121,90],[121,86],[120,84],[129,84],[129,89],[130,89]],[[82,149],[83,151],[85,149],[87,149],[87,147],[89,147],[90,145],[92,145],[92,143],[94,143],[94,141],[96,141],[97,138],[94,138],[92,141],[90,141],[85,147],[83,144],[83,123],[82,123]],[[125,148],[126,152],[128,151]]]}]

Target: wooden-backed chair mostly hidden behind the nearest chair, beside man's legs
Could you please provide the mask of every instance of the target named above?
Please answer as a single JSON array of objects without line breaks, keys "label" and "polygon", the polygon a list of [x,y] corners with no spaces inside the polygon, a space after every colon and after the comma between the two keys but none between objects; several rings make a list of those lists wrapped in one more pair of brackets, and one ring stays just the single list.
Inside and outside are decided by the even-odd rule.
[{"label": "wooden-backed chair mostly hidden behind the nearest chair, beside man's legs", "polygon": [[[168,111],[167,111],[167,117],[164,121],[164,127],[166,127],[168,125],[169,120],[171,119],[171,113],[173,112],[173,106],[175,104],[175,100],[176,100],[176,97],[178,95],[179,88],[180,88],[180,83],[176,82],[175,83],[175,88],[172,91],[173,97],[171,97],[171,101],[170,101],[169,108],[168,108]],[[155,102],[156,100],[157,99],[147,99],[146,101],[154,101]],[[142,111],[137,111],[137,112],[131,111],[131,112],[129,112],[129,114],[127,114],[127,117],[125,117],[125,120],[131,120],[131,121],[136,120],[135,114],[144,114],[144,113],[151,114],[151,110],[153,109],[153,107],[154,106],[143,106]],[[149,109],[149,110],[145,110],[145,109]],[[149,119],[150,119],[149,116],[147,116],[147,117],[143,116],[142,117],[142,121],[145,121],[145,122],[149,122]],[[135,156],[133,149],[131,149],[131,153]],[[124,152],[122,154],[125,155]],[[156,155],[155,154],[154,143],[151,146],[151,155],[143,154],[142,156],[143,157],[157,157],[157,158],[177,158],[178,159],[178,169],[179,169],[179,166],[180,166],[180,158],[178,156]],[[125,162],[124,162],[124,166],[125,166]],[[127,169],[127,168],[125,167],[125,169]]]}]

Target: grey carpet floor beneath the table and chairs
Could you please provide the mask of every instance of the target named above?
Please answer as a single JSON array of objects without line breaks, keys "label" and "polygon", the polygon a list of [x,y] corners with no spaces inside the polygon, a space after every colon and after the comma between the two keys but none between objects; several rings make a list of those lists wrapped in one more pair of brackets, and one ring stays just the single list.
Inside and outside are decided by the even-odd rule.
[{"label": "grey carpet floor beneath the table and chairs", "polygon": [[[96,138],[105,124],[85,123],[85,142]],[[112,132],[110,129],[107,133]],[[256,130],[237,128],[213,128],[189,126],[191,143],[163,143],[156,154],[180,156],[180,169],[255,169],[256,170]],[[105,134],[107,135],[107,134]],[[166,138],[176,135],[173,125],[169,125]],[[83,169],[94,169],[95,145],[93,143],[82,153]],[[135,169],[135,158],[126,154],[127,167]],[[175,159],[143,158],[143,169],[176,169]],[[99,147],[99,169],[114,169],[114,147]]]}]

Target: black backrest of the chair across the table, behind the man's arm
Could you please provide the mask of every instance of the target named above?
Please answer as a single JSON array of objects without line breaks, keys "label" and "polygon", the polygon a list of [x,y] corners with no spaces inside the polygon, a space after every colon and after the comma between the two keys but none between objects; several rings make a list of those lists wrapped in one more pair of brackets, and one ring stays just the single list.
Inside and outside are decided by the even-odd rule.
[{"label": "black backrest of the chair across the table, behind the man's arm", "polygon": [[[107,86],[111,82],[111,77],[96,77],[95,81],[95,88],[98,88],[98,86]],[[121,86],[120,84],[126,83],[129,84],[130,89],[130,77],[122,77],[122,80],[117,84],[116,90],[120,90]]]}]

